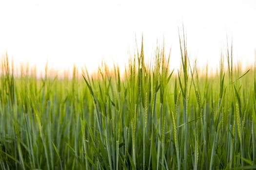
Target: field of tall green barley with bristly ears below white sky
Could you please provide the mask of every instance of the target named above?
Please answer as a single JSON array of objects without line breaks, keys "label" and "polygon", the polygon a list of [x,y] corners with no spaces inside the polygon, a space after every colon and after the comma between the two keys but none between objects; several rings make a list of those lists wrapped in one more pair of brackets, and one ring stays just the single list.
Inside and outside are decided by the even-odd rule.
[{"label": "field of tall green barley with bristly ears below white sky", "polygon": [[179,43],[177,72],[164,47],[146,63],[142,42],[123,77],[106,65],[18,77],[3,55],[0,170],[256,169],[256,69],[234,64],[227,45],[209,76]]}]

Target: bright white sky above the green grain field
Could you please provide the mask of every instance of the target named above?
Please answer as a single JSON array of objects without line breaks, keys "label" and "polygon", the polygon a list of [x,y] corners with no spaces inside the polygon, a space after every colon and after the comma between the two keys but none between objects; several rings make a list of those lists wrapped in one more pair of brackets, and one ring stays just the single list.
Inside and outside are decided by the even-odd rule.
[{"label": "bright white sky above the green grain field", "polygon": [[143,33],[147,56],[165,41],[172,47],[171,63],[179,67],[177,28],[182,23],[191,58],[216,67],[226,37],[233,39],[234,56],[254,62],[256,0],[0,0],[0,54],[14,62],[43,69],[87,66],[103,59],[121,70],[128,51]]}]

